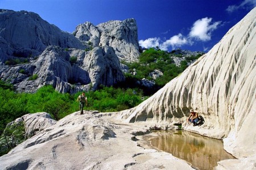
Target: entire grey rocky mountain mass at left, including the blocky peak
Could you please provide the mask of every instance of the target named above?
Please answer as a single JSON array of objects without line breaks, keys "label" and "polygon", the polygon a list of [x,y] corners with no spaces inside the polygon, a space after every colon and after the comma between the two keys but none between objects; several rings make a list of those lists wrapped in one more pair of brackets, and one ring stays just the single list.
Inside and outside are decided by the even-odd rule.
[{"label": "entire grey rocky mountain mass at left, including the blocky peak", "polygon": [[139,55],[134,19],[80,24],[74,35],[34,12],[0,10],[0,79],[18,92],[96,90],[125,79],[118,57]]}]

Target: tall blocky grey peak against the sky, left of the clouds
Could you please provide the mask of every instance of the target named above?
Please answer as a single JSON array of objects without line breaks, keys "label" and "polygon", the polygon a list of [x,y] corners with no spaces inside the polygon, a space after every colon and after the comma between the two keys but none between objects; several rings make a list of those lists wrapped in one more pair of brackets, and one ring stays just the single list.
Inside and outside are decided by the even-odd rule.
[{"label": "tall blocky grey peak against the sky, left of the clouds", "polygon": [[139,43],[135,19],[111,20],[94,26],[86,22],[77,26],[75,36],[92,46],[112,46],[119,59],[137,61]]}]

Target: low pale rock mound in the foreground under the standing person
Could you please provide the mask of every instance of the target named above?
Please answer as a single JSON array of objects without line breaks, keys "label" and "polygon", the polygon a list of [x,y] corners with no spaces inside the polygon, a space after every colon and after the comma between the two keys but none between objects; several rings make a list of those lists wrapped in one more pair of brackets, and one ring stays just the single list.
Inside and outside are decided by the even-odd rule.
[{"label": "low pale rock mound in the foreground under the standing person", "polygon": [[76,112],[1,156],[0,169],[193,169],[171,154],[137,146],[134,135],[145,133]]}]

